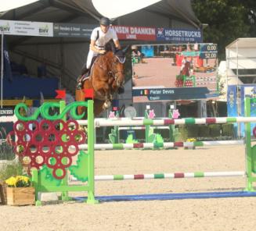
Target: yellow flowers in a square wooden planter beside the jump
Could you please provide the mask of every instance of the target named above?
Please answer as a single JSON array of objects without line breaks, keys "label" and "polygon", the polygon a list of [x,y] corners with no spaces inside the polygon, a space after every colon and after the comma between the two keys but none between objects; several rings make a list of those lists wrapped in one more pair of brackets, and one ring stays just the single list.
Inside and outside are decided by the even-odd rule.
[{"label": "yellow flowers in a square wooden planter beside the jump", "polygon": [[7,184],[7,204],[27,205],[34,204],[34,187],[27,176],[12,176],[5,180]]}]

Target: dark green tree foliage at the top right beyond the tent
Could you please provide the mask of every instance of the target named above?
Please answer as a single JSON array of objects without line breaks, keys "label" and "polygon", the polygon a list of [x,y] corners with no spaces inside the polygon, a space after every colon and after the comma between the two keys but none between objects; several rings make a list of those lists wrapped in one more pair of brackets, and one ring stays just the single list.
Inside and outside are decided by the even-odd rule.
[{"label": "dark green tree foliage at the top right beyond the tent", "polygon": [[256,37],[255,0],[193,0],[193,10],[204,29],[204,42],[218,44],[219,58],[225,46],[238,37]]}]

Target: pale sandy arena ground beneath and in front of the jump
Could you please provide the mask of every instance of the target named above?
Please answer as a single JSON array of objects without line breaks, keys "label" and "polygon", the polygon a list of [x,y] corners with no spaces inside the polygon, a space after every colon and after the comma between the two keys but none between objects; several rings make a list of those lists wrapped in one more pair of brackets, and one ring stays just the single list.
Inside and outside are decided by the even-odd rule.
[{"label": "pale sandy arena ground beneath and in front of the jump", "polygon": [[[243,146],[96,151],[96,175],[243,170]],[[225,191],[242,190],[244,186],[245,179],[236,177],[107,181],[96,183],[96,194]],[[246,231],[255,228],[255,213],[255,197],[0,206],[0,230]]]}]

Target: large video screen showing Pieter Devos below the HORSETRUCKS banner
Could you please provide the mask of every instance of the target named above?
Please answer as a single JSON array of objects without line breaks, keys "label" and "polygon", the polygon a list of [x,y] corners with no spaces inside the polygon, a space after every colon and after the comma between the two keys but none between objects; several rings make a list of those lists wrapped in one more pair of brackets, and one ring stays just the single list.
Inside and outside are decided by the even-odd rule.
[{"label": "large video screen showing Pieter Devos below the HORSETRUCKS banner", "polygon": [[218,90],[217,66],[217,44],[134,44],[133,101],[206,98]]}]

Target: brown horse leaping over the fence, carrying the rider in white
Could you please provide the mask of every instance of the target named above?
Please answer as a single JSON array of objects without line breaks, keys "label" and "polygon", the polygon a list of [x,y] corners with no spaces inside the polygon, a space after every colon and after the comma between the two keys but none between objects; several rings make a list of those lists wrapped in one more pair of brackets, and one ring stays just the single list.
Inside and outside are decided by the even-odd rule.
[{"label": "brown horse leaping over the fence, carrying the rider in white", "polygon": [[[124,85],[125,52],[117,50],[114,42],[105,45],[106,53],[97,56],[92,64],[90,75],[82,84],[82,89],[76,89],[76,101],[84,101],[83,89],[92,89],[94,98],[94,115],[99,116],[107,108],[110,108],[114,93]],[[85,112],[85,108],[78,107],[78,115]]]}]

